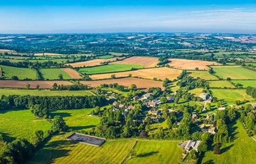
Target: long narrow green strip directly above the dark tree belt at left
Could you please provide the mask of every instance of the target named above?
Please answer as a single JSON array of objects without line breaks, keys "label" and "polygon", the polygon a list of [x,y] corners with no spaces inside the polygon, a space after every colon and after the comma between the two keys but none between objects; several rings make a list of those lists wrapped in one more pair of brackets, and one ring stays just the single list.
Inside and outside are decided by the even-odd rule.
[{"label": "long narrow green strip directly above the dark tree belt at left", "polygon": [[94,95],[91,91],[51,91],[51,90],[22,90],[0,89],[0,95],[31,95],[31,96],[84,96]]}]

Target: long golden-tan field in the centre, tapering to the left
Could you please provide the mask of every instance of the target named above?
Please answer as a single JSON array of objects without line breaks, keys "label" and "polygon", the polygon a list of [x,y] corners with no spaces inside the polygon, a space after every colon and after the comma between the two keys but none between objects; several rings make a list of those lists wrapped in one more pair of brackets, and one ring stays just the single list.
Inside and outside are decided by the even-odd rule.
[{"label": "long golden-tan field in the centre, tapering to the left", "polygon": [[153,79],[154,77],[156,77],[157,79],[161,79],[161,80],[164,80],[165,78],[174,80],[180,75],[181,72],[182,71],[178,69],[160,67],[160,68],[140,69],[136,71],[95,74],[95,75],[91,75],[90,77],[92,79],[106,79],[106,78],[111,78],[111,75],[113,74],[115,74],[116,77],[127,77],[129,76],[129,74],[132,74],[132,77],[141,77],[141,78],[147,78],[147,79]]}]

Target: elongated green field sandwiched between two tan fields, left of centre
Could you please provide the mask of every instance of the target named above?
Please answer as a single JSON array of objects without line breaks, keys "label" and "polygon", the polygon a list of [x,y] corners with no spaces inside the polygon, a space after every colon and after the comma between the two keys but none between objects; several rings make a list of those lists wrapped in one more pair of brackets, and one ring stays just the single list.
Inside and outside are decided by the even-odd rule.
[{"label": "elongated green field sandwiched between two tan fields, left of centre", "polygon": [[141,65],[127,65],[127,64],[113,64],[113,65],[104,65],[90,68],[81,68],[80,72],[86,74],[96,74],[96,73],[108,73],[108,72],[121,72],[129,71],[132,68],[143,68]]}]

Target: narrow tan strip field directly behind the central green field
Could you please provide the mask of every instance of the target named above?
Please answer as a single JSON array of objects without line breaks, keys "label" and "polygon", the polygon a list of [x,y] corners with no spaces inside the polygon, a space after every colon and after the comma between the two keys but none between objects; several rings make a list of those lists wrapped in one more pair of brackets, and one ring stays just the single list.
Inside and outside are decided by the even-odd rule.
[{"label": "narrow tan strip field directly behind the central green field", "polygon": [[92,67],[92,66],[100,66],[102,63],[106,61],[115,61],[116,59],[121,59],[121,57],[114,57],[114,58],[109,58],[109,59],[93,59],[89,61],[81,61],[81,62],[76,62],[76,63],[69,63],[66,65],[71,65],[72,67]]}]

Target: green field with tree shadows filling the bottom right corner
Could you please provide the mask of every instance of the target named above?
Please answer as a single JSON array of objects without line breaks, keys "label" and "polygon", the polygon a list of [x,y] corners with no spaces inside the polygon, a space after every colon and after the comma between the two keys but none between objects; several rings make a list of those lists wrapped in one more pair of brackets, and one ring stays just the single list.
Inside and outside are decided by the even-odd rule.
[{"label": "green field with tree shadows filling the bottom right corner", "polygon": [[220,155],[214,155],[212,151],[208,151],[203,155],[200,163],[246,163],[253,164],[256,161],[256,142],[247,134],[242,124],[237,121],[231,128],[231,136],[233,142],[223,144]]}]

